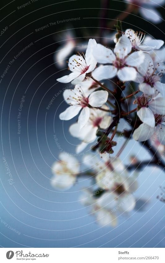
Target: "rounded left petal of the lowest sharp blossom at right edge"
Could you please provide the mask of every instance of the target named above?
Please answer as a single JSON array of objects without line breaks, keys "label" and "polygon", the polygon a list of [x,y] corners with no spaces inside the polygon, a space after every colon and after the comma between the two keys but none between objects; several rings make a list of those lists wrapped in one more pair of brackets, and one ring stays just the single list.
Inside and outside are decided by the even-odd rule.
[{"label": "rounded left petal of the lowest sharp blossom at right edge", "polygon": [[154,127],[150,127],[145,123],[142,123],[133,133],[135,141],[144,142],[148,140],[154,134]]}]

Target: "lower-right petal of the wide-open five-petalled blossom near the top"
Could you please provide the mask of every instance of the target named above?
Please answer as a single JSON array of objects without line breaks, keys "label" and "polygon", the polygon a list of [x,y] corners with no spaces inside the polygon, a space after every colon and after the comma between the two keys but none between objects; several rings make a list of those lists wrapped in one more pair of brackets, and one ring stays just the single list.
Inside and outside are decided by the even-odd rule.
[{"label": "lower-right petal of the wide-open five-petalled blossom near the top", "polygon": [[133,81],[136,79],[137,72],[135,68],[132,67],[124,67],[119,69],[117,72],[117,76],[121,81]]}]

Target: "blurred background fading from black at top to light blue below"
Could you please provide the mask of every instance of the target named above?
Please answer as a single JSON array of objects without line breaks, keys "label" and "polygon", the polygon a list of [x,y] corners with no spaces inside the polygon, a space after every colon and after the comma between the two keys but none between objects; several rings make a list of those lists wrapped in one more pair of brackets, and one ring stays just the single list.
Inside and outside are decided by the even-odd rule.
[{"label": "blurred background fading from black at top to light blue below", "polygon": [[[140,171],[136,198],[141,199],[132,213],[119,216],[115,228],[98,226],[79,202],[91,179],[79,178],[65,192],[50,185],[51,166],[60,153],[54,135],[62,151],[72,154],[79,142],[68,132],[74,121],[59,120],[67,106],[62,91],[71,83],[56,81],[67,74],[67,64],[60,68],[54,54],[68,36],[75,46],[71,54],[81,51],[89,38],[105,38],[110,45],[115,28],[110,30],[108,23],[125,8],[126,2],[112,0],[1,2],[1,146],[7,162],[5,166],[1,158],[1,247],[164,247],[164,204],[156,198],[164,174],[158,167]],[[164,8],[158,10],[163,15]],[[132,28],[164,40],[164,25],[164,20],[155,25],[137,13],[124,20],[123,30]],[[140,158],[145,152],[131,139],[120,157],[128,164],[130,154]],[[77,158],[82,161],[82,156]]]}]

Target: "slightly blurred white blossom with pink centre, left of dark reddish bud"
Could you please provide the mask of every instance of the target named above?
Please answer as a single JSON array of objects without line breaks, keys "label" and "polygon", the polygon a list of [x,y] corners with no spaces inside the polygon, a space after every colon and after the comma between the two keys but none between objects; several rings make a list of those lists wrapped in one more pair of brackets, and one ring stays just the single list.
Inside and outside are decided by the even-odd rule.
[{"label": "slightly blurred white blossom with pink centre, left of dark reddish bud", "polygon": [[[109,109],[106,105],[103,109]],[[69,131],[73,137],[79,138],[82,142],[76,147],[76,152],[81,152],[91,142],[97,138],[96,133],[99,128],[106,129],[111,123],[111,116],[108,112],[99,109],[90,109],[89,120],[86,125],[80,130],[80,125],[74,123],[70,126]]]}]

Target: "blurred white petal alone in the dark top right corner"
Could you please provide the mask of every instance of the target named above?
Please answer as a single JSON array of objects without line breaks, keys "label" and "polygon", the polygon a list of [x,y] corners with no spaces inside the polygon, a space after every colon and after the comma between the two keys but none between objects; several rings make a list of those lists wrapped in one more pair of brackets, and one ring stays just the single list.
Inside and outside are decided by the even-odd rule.
[{"label": "blurred white petal alone in the dark top right corner", "polygon": [[151,22],[156,23],[160,23],[162,22],[162,16],[160,15],[160,13],[156,10],[156,9],[152,9],[152,8],[139,8],[139,11],[141,13],[141,15],[146,19],[149,20]]}]

